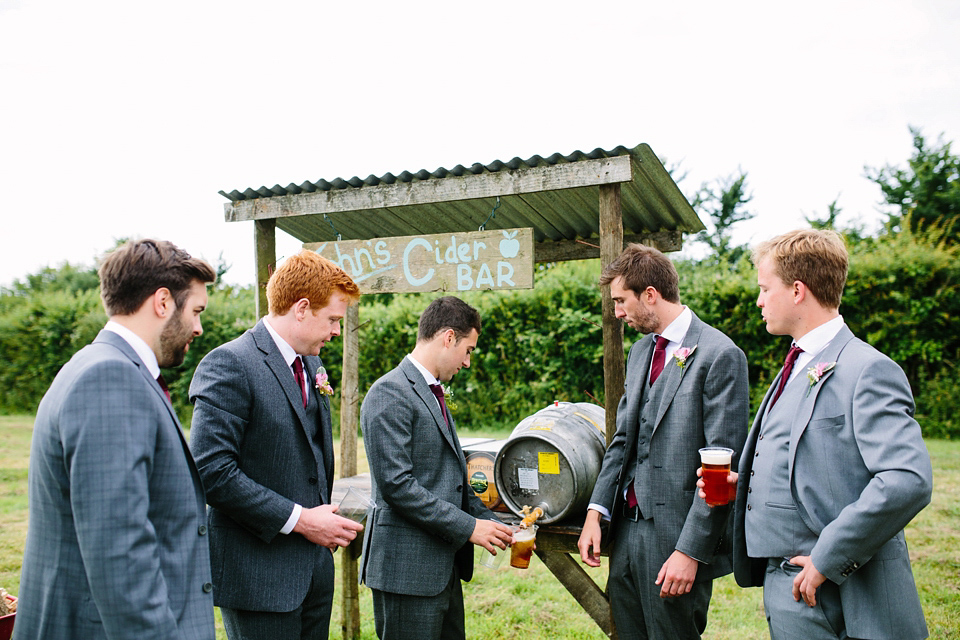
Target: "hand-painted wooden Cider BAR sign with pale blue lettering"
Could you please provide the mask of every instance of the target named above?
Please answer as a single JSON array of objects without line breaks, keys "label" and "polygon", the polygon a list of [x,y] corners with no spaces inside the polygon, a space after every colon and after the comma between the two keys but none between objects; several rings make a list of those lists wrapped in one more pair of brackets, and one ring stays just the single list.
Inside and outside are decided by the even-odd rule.
[{"label": "hand-painted wooden Cider BAR sign with pale blue lettering", "polygon": [[533,288],[533,229],[311,242],[362,293]]}]

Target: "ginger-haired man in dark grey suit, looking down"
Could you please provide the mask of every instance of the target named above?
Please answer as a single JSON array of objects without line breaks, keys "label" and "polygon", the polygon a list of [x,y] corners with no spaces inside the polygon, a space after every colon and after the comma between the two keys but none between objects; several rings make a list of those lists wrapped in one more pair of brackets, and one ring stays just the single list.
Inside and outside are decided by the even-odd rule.
[{"label": "ginger-haired man in dark grey suit, looking down", "polygon": [[230,640],[329,635],[336,514],[331,385],[318,354],[360,292],[311,251],[270,276],[270,313],[197,366],[191,447],[210,504],[214,602]]}]

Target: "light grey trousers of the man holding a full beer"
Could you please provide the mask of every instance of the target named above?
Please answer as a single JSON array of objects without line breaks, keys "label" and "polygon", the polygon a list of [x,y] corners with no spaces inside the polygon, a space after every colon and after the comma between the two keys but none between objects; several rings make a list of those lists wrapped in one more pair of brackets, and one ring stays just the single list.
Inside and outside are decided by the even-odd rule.
[{"label": "light grey trousers of the man holding a full beer", "polygon": [[767,562],[763,610],[772,640],[847,640],[840,587],[827,580],[817,589],[817,604],[793,599],[793,579],[802,567],[780,558]]}]

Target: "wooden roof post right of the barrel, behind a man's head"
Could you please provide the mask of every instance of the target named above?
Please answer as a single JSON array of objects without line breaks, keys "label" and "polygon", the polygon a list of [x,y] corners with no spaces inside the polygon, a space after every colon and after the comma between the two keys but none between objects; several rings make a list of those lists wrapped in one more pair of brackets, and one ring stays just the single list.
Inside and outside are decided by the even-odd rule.
[{"label": "wooden roof post right of the barrel, behind a man's head", "polygon": [[[600,264],[613,262],[623,251],[623,214],[620,185],[600,186]],[[610,287],[602,288],[603,309],[603,394],[606,411],[607,444],[617,431],[617,404],[623,395],[623,323],[614,315]]]}]

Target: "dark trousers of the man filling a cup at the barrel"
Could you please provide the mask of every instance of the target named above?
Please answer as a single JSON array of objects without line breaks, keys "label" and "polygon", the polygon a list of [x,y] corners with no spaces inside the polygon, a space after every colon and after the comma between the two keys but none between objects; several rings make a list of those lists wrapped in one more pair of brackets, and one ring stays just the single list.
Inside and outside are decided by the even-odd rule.
[{"label": "dark trousers of the man filling a cup at the barrel", "polygon": [[463,587],[456,569],[444,590],[435,596],[370,591],[380,640],[465,640]]}]

